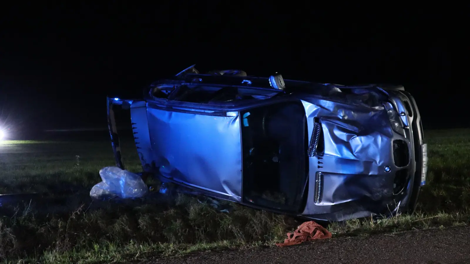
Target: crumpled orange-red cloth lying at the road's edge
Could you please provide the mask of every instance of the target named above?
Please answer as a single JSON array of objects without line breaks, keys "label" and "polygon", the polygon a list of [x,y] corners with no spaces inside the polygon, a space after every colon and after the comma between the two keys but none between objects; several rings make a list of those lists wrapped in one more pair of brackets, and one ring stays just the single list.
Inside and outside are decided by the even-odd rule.
[{"label": "crumpled orange-red cloth lying at the road's edge", "polygon": [[299,225],[294,233],[287,233],[284,243],[276,243],[278,247],[298,245],[305,241],[331,238],[331,233],[323,226],[314,221],[305,222]]}]

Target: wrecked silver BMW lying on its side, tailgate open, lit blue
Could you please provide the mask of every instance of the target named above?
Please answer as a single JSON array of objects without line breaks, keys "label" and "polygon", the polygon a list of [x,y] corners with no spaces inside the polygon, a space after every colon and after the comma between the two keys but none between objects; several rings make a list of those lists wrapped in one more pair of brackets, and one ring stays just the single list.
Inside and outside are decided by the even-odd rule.
[{"label": "wrecked silver BMW lying on its side, tailgate open, lit blue", "polygon": [[426,144],[403,86],[344,86],[200,74],[194,65],[159,80],[130,109],[143,170],[163,182],[253,208],[342,221],[415,210]]}]

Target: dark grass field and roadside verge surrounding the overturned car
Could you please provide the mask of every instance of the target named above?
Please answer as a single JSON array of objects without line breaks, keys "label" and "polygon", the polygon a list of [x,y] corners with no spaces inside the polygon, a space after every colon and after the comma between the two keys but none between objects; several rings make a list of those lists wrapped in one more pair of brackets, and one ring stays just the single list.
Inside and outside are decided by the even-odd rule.
[{"label": "dark grass field and roadside verge surrounding the overturned car", "polygon": [[[425,140],[428,181],[414,215],[333,223],[329,230],[340,236],[468,224],[470,130],[425,131]],[[124,142],[123,154],[127,168],[140,171],[131,141]],[[98,171],[113,164],[106,140],[5,141],[0,143],[0,193],[85,197],[101,181]],[[194,250],[273,245],[299,225],[291,217],[238,205],[220,213],[185,195],[158,205],[107,203],[90,210],[84,203],[73,212],[48,215],[29,204],[13,208],[16,214],[0,218],[0,260],[139,262]]]}]

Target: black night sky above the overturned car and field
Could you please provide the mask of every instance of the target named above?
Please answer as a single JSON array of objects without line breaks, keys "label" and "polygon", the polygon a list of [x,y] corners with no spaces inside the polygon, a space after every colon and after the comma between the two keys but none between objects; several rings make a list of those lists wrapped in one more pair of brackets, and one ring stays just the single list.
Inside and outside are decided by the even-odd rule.
[{"label": "black night sky above the overturned car and field", "polygon": [[455,115],[464,105],[452,86],[444,12],[314,10],[224,1],[2,7],[0,122],[105,126],[106,95],[141,96],[151,81],[196,63],[202,71],[398,83],[415,96],[425,127],[468,126]]}]

